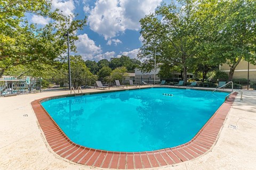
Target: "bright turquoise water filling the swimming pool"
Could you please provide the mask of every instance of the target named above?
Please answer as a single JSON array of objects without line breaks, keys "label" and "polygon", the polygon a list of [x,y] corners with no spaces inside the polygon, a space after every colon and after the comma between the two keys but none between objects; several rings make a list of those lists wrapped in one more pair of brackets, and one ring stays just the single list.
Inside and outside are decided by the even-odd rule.
[{"label": "bright turquoise water filling the swimming pool", "polygon": [[149,88],[52,99],[42,105],[73,142],[134,152],[188,142],[225,96],[223,92]]}]

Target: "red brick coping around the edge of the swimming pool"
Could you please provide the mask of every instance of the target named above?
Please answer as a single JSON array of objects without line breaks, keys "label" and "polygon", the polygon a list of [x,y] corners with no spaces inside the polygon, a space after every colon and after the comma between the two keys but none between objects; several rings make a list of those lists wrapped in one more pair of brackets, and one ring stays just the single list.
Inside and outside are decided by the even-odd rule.
[{"label": "red brick coping around the edge of the swimming pool", "polygon": [[133,169],[174,165],[205,154],[217,141],[236,95],[231,94],[189,142],[173,148],[146,152],[113,152],[77,145],[67,137],[40,104],[46,98],[35,100],[31,105],[49,146],[62,158],[87,166]]}]

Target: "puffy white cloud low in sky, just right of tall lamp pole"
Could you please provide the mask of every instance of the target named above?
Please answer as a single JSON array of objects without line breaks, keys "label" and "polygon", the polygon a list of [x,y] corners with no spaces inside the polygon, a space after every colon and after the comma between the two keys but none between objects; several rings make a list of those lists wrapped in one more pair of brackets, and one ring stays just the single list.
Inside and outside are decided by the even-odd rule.
[{"label": "puffy white cloud low in sky, just right of tall lamp pole", "polygon": [[94,56],[102,53],[101,47],[95,45],[94,41],[86,33],[79,35],[78,38],[75,43],[76,50],[84,60],[94,60]]}]

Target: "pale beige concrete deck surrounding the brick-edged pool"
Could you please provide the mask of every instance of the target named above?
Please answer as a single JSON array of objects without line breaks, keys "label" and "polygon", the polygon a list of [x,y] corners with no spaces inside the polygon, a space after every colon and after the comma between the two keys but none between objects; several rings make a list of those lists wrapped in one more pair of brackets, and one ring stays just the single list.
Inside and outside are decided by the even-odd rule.
[{"label": "pale beige concrete deck surrounding the brick-edged pool", "polygon": [[[83,92],[92,91],[102,90]],[[193,160],[155,169],[256,169],[256,91],[243,92],[244,100],[240,101],[240,95],[237,95],[219,138],[209,151]],[[0,169],[94,168],[55,154],[45,141],[31,108],[30,103],[35,99],[66,94],[69,91],[0,98]],[[237,125],[237,130],[229,128],[229,124]]]}]

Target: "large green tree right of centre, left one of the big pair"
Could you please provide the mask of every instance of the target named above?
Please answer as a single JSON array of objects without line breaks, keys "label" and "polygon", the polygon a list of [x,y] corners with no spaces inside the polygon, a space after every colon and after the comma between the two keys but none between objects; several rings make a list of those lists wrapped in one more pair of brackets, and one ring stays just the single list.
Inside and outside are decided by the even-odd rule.
[{"label": "large green tree right of centre, left one of the big pair", "polygon": [[154,14],[149,14],[140,20],[143,46],[138,57],[143,71],[154,69],[156,55],[160,67],[180,67],[185,83],[189,70],[189,58],[195,55],[195,37],[197,28],[194,25],[193,13],[195,7],[192,1],[172,2],[162,4]]}]

